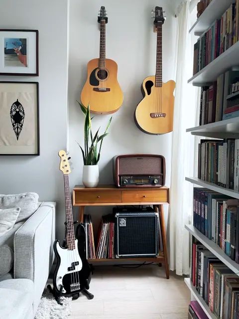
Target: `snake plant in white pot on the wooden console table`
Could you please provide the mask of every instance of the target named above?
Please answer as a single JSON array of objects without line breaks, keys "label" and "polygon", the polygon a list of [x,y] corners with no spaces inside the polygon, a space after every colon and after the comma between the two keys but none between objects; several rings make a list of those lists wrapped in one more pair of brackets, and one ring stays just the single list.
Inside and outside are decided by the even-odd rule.
[{"label": "snake plant in white pot on the wooden console table", "polygon": [[[85,125],[84,125],[85,148],[84,150],[78,143],[79,147],[81,148],[83,161],[84,161],[82,181],[86,187],[96,187],[99,184],[98,162],[100,160],[102,143],[103,143],[103,139],[109,134],[107,133],[107,131],[111,125],[112,117],[110,118],[107,124],[105,133],[102,135],[99,135],[99,130],[100,130],[99,128],[95,136],[93,137],[93,134],[91,131],[92,119],[90,117],[90,105],[88,105],[87,109],[85,109],[85,107],[81,103],[79,103],[79,105],[85,116]],[[90,142],[89,142],[89,138],[91,139]],[[100,149],[98,152],[97,146],[99,142],[100,142]]]}]

